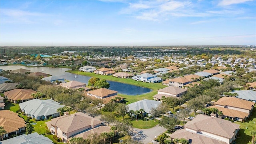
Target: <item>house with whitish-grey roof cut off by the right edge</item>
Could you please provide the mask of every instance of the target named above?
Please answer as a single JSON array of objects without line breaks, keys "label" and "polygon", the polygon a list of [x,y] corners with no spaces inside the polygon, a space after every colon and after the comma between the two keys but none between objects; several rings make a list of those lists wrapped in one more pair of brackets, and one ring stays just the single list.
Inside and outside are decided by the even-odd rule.
[{"label": "house with whitish-grey roof cut off by the right edge", "polygon": [[249,100],[252,102],[256,102],[256,91],[254,91],[254,90],[235,90],[230,93],[237,93],[238,98],[241,98],[243,100]]}]

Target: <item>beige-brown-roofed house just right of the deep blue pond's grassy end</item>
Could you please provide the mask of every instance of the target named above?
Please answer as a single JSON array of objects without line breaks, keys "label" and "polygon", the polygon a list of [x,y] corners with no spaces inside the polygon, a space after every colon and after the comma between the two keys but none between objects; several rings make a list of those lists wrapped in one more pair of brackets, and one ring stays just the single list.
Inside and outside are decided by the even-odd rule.
[{"label": "beige-brown-roofed house just right of the deep blue pond's grassy end", "polygon": [[179,98],[183,94],[185,94],[187,89],[184,88],[178,88],[175,86],[168,86],[166,88],[162,88],[160,90],[157,90],[157,94],[154,95],[154,100],[161,101],[162,96],[164,97],[174,97]]}]

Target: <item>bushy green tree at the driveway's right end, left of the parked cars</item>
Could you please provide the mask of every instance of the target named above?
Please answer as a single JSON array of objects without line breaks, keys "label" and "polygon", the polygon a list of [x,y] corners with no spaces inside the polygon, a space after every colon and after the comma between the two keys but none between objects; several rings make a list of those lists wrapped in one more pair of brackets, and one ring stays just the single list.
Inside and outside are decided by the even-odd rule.
[{"label": "bushy green tree at the driveway's right end, left of the parked cars", "polygon": [[162,120],[159,122],[159,126],[168,129],[169,132],[173,132],[174,127],[178,124],[180,124],[180,120],[176,118],[169,118],[166,116],[164,116],[164,118],[162,118]]}]

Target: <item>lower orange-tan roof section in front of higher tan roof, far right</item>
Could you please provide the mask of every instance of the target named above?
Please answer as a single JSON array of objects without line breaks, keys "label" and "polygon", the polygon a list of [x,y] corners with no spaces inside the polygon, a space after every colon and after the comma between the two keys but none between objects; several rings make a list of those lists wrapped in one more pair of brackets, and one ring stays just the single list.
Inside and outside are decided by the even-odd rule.
[{"label": "lower orange-tan roof section in front of higher tan roof, far right", "polygon": [[231,118],[242,118],[248,117],[249,114],[246,112],[241,112],[239,110],[232,110],[230,108],[222,108],[220,106],[209,106],[208,108],[217,108],[219,111],[222,111],[224,116],[229,116]]}]

